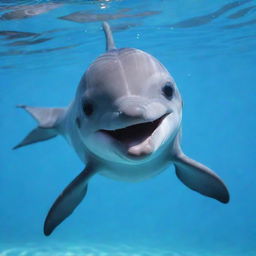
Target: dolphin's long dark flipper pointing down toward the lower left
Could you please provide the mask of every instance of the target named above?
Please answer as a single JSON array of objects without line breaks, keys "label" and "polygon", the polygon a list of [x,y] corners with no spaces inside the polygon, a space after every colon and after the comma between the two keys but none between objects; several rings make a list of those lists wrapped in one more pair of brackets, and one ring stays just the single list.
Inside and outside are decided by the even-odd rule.
[{"label": "dolphin's long dark flipper pointing down toward the lower left", "polygon": [[56,199],[44,222],[44,234],[49,236],[52,231],[80,204],[87,192],[87,183],[95,170],[86,167]]}]

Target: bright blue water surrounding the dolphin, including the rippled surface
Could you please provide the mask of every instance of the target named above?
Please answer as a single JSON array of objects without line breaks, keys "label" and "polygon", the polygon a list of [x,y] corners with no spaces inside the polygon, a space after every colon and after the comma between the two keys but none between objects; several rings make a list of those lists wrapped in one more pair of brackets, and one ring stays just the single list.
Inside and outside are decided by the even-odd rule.
[{"label": "bright blue water surrounding the dolphin, including the rippled surface", "polygon": [[[256,255],[255,15],[253,0],[0,1],[0,255]],[[183,149],[231,201],[189,190],[172,166],[135,184],[96,175],[45,237],[49,207],[84,166],[61,137],[12,151],[35,126],[15,105],[68,105],[105,50],[104,19],[118,47],[149,52],[174,76]]]}]

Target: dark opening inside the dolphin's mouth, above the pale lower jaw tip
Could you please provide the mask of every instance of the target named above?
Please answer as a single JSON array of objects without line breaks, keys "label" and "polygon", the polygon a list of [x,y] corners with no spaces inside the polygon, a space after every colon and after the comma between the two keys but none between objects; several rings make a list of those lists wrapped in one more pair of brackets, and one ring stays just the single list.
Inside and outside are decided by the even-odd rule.
[{"label": "dark opening inside the dolphin's mouth, above the pale lower jaw tip", "polygon": [[149,138],[161,124],[166,114],[152,121],[131,125],[117,130],[100,130],[100,132],[129,146],[139,144]]}]

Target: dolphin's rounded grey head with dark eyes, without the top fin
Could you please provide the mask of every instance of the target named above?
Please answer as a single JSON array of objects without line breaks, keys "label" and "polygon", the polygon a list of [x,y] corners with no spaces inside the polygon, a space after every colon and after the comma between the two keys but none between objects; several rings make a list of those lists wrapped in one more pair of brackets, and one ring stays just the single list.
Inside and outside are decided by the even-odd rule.
[{"label": "dolphin's rounded grey head with dark eyes, without the top fin", "polygon": [[76,94],[81,140],[97,157],[147,161],[180,127],[182,101],[174,79],[153,56],[134,48],[98,57]]}]

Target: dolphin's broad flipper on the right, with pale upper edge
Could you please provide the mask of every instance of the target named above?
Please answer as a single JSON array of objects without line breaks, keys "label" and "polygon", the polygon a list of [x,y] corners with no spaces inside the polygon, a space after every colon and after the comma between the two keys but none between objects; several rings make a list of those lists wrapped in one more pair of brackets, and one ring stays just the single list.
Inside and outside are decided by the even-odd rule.
[{"label": "dolphin's broad flipper on the right, with pale upper edge", "polygon": [[183,153],[177,156],[174,165],[178,178],[186,186],[222,203],[228,203],[228,190],[212,170],[188,158]]}]

